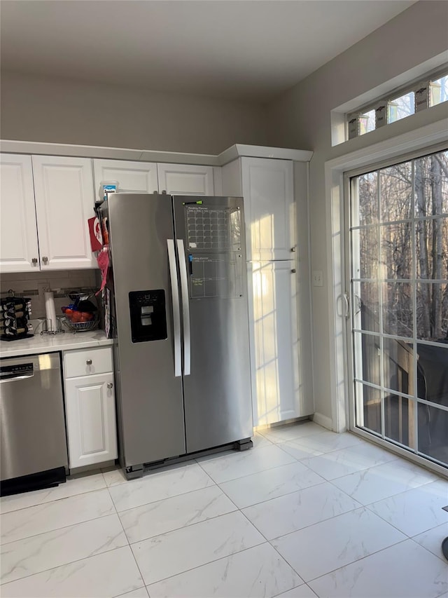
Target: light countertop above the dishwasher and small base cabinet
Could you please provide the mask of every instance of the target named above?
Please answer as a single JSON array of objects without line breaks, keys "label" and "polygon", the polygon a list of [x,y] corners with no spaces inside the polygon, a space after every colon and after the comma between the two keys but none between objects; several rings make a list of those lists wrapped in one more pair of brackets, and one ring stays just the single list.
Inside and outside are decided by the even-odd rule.
[{"label": "light countertop above the dishwasher and small base cabinet", "polygon": [[64,332],[64,334],[35,334],[19,341],[0,341],[0,358],[20,357],[34,353],[52,353],[112,345],[113,339],[106,339],[104,330],[86,332]]}]

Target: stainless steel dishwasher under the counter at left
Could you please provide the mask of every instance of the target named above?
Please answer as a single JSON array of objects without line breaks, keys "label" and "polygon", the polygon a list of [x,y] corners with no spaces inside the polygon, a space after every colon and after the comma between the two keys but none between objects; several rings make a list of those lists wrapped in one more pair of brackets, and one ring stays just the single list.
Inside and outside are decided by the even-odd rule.
[{"label": "stainless steel dishwasher under the counter at left", "polygon": [[0,450],[2,495],[65,481],[59,353],[0,360]]}]

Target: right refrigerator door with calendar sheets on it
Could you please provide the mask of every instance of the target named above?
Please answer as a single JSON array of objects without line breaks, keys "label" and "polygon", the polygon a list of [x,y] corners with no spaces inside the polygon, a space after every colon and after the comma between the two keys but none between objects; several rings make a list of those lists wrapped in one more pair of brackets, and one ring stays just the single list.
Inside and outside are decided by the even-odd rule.
[{"label": "right refrigerator door with calendar sheets on it", "polygon": [[174,196],[174,223],[193,452],[253,434],[242,199]]}]

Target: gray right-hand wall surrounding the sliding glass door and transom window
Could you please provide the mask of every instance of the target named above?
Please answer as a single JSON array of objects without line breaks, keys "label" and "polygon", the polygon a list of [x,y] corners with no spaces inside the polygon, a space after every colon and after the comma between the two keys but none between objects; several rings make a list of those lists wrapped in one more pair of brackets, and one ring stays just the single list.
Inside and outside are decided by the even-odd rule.
[{"label": "gray right-hand wall surrounding the sliding glass door and transom window", "polygon": [[269,107],[269,144],[314,150],[310,168],[311,270],[322,270],[324,280],[324,286],[313,287],[311,294],[314,400],[316,412],[328,418],[330,380],[326,372],[330,371],[329,347],[334,332],[328,322],[331,290],[325,284],[330,243],[325,235],[325,161],[447,115],[446,107],[434,107],[365,137],[331,147],[330,111],[446,51],[447,31],[448,3],[419,1]]}]

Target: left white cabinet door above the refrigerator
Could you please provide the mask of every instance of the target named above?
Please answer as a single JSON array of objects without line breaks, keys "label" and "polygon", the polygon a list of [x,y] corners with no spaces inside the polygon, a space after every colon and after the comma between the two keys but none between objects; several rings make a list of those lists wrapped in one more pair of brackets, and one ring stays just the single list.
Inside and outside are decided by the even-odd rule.
[{"label": "left white cabinet door above the refrigerator", "polygon": [[118,191],[154,193],[159,191],[157,164],[127,160],[94,160],[95,199],[102,201],[101,183],[117,181]]}]

